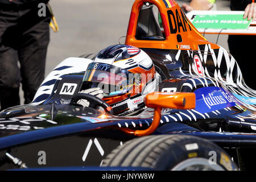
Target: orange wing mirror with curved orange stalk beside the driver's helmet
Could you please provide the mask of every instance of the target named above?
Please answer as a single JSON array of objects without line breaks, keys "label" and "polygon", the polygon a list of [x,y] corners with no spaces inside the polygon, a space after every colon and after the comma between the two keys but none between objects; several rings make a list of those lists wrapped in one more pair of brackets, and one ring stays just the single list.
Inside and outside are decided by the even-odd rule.
[{"label": "orange wing mirror with curved orange stalk beside the driver's helmet", "polygon": [[162,108],[170,109],[195,109],[196,107],[196,95],[195,93],[165,93],[154,92],[147,94],[144,97],[144,102],[147,107],[153,107],[154,119],[146,130],[131,130],[127,128],[121,128],[127,134],[133,134],[137,137],[142,137],[152,134],[159,126],[160,119],[162,117]]}]

